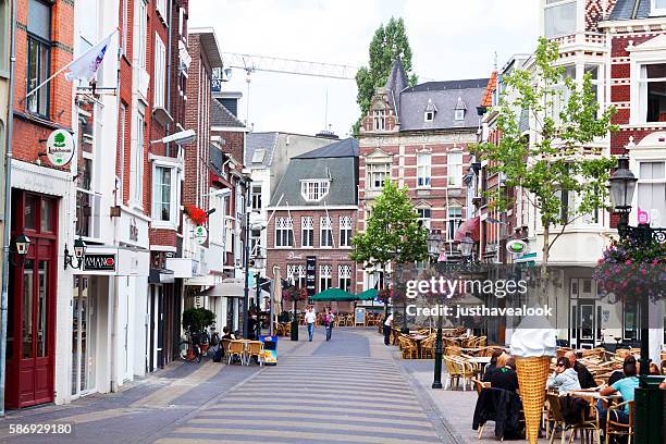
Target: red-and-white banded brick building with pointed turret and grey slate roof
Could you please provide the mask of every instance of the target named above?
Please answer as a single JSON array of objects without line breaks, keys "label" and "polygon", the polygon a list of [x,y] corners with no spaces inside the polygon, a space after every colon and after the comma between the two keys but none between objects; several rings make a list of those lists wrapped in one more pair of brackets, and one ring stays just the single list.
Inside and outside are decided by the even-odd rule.
[{"label": "red-and-white banded brick building with pointed turret and grey slate roof", "polygon": [[[383,88],[378,88],[359,138],[358,230],[385,180],[409,188],[421,223],[440,231],[448,259],[458,256],[455,234],[470,214],[464,172],[467,146],[477,141],[480,106],[488,78],[428,82],[409,87],[396,60]],[[476,235],[478,239],[478,235]],[[357,291],[385,285],[382,270],[357,271]]]}]

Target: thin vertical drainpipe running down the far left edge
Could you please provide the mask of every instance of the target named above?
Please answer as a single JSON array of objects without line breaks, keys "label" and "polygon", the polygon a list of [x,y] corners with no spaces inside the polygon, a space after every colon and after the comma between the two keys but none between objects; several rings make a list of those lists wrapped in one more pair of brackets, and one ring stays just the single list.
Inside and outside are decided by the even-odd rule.
[{"label": "thin vertical drainpipe running down the far left edge", "polygon": [[12,137],[14,130],[14,69],[16,66],[16,1],[11,2],[12,8],[12,38],[10,47],[10,84],[7,106],[7,151],[4,161],[4,245],[2,248],[2,297],[0,298],[0,417],[4,417],[4,388],[7,380],[7,309],[9,291],[9,258],[11,244],[11,215],[12,215]]}]

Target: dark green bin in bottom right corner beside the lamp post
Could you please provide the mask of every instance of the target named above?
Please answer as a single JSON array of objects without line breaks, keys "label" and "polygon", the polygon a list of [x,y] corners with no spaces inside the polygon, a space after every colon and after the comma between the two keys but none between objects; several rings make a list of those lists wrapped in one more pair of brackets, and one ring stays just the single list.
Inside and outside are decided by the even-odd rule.
[{"label": "dark green bin in bottom right corner beside the lamp post", "polygon": [[637,444],[664,443],[664,403],[666,391],[659,390],[663,378],[648,377],[648,386],[636,390]]}]

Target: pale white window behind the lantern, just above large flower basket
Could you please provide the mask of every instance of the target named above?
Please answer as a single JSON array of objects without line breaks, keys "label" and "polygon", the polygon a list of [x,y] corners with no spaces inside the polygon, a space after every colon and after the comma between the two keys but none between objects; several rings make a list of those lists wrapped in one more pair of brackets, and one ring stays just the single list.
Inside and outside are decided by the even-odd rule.
[{"label": "pale white window behind the lantern, just above large flower basket", "polygon": [[639,220],[648,217],[652,226],[665,226],[666,162],[639,162],[637,198]]}]

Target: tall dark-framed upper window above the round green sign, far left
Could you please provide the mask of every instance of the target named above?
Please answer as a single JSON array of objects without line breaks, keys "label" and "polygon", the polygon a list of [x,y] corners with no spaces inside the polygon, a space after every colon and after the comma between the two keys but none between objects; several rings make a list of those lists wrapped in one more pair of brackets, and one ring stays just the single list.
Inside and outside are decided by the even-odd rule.
[{"label": "tall dark-framed upper window above the round green sign, far left", "polygon": [[[51,48],[51,8],[38,0],[28,1],[27,24],[27,91],[30,92],[49,77]],[[27,98],[29,112],[48,119],[49,88],[47,84]]]}]

